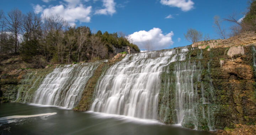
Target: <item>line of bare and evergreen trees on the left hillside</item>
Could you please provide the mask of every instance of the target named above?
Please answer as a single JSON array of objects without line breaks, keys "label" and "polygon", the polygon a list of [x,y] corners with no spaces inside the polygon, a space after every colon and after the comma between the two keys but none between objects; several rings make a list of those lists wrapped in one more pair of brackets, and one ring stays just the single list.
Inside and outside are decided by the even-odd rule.
[{"label": "line of bare and evergreen trees on the left hillside", "polygon": [[139,51],[122,32],[92,32],[86,26],[70,26],[56,14],[40,16],[12,9],[5,15],[0,10],[0,29],[1,55],[20,55],[38,66],[108,59],[114,55],[113,47]]}]

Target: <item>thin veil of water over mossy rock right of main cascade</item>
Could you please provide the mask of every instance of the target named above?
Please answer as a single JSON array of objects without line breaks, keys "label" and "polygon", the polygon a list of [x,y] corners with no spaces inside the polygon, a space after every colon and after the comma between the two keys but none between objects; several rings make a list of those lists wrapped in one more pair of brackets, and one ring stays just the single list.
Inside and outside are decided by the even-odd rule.
[{"label": "thin veil of water over mossy rock right of main cascade", "polygon": [[[196,68],[196,63],[188,61],[187,63],[175,64],[174,74],[176,75],[176,111],[177,122],[182,123],[183,118],[187,117],[191,121],[196,120],[195,115],[195,102],[197,92],[194,90],[193,77],[201,70]],[[197,81],[200,78],[197,77]],[[204,98],[204,97],[203,97]]]}]

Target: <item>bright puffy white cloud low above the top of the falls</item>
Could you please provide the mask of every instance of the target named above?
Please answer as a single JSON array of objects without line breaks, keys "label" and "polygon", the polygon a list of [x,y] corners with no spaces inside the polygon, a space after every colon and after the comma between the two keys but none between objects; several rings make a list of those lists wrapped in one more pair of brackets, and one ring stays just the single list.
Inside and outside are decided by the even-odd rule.
[{"label": "bright puffy white cloud low above the top of the falls", "polygon": [[160,28],[153,28],[149,31],[139,31],[128,35],[133,43],[138,45],[140,49],[145,49],[145,44],[150,41],[154,50],[164,49],[172,45],[172,36],[174,33],[171,31],[168,34],[163,34]]}]

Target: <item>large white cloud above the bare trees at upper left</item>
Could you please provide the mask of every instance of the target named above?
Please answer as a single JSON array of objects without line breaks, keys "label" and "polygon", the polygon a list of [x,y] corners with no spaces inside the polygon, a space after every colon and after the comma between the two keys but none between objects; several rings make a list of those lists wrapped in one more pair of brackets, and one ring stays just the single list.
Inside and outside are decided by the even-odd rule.
[{"label": "large white cloud above the bare trees at upper left", "polygon": [[61,17],[65,18],[66,21],[74,25],[75,22],[90,22],[91,17],[91,6],[85,7],[82,4],[76,7],[57,5],[49,7],[48,9],[43,10],[44,15],[50,15],[51,13],[58,14]]}]

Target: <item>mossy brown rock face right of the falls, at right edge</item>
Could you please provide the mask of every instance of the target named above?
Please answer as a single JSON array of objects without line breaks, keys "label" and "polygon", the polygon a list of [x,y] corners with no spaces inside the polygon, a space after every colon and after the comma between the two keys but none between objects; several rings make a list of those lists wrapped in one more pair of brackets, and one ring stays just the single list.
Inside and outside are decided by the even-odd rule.
[{"label": "mossy brown rock face right of the falls, at right edge", "polygon": [[[233,60],[225,57],[221,68],[211,69],[215,91],[215,128],[233,128],[235,124],[256,124],[256,88],[252,46],[245,55]],[[224,48],[222,51],[225,51]]]}]

